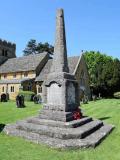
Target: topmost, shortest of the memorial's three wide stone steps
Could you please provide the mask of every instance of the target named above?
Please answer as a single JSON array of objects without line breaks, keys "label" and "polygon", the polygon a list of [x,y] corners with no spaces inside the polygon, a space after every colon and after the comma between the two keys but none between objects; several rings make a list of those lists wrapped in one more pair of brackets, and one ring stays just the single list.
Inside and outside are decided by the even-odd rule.
[{"label": "topmost, shortest of the memorial's three wide stone steps", "polygon": [[32,117],[26,120],[28,123],[34,123],[38,125],[46,125],[52,127],[62,127],[62,128],[76,128],[78,126],[84,125],[90,121],[92,121],[91,117],[84,117],[82,119],[73,120],[70,122],[61,122],[61,121],[53,121],[40,119],[39,117]]}]

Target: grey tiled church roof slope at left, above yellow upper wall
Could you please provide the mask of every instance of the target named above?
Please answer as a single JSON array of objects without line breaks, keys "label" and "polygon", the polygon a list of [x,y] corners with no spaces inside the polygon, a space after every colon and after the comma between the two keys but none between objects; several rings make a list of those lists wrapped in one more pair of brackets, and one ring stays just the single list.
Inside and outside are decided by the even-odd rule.
[{"label": "grey tiled church roof slope at left, above yellow upper wall", "polygon": [[36,55],[8,59],[0,66],[0,73],[34,71],[47,54],[47,52],[43,52]]}]

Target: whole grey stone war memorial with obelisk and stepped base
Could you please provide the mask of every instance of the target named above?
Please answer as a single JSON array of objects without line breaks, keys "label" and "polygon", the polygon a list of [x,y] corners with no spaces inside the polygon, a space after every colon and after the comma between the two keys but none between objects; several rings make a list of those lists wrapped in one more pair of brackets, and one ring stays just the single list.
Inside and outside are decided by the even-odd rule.
[{"label": "whole grey stone war memorial with obelisk and stepped base", "polygon": [[53,148],[88,148],[114,128],[80,110],[79,85],[69,73],[63,9],[57,10],[54,58],[44,86],[47,98],[39,115],[6,125],[6,134]]}]

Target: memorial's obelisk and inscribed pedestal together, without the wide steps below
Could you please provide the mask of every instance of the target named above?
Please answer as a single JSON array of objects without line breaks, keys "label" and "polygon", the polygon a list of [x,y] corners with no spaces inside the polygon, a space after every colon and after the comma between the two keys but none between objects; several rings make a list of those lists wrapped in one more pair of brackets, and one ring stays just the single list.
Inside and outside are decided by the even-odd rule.
[{"label": "memorial's obelisk and inscribed pedestal together, without the wide steps below", "polygon": [[73,112],[79,107],[79,86],[73,74],[69,73],[63,10],[57,11],[54,57],[51,72],[44,82],[46,103],[44,111],[48,119],[73,120]]}]

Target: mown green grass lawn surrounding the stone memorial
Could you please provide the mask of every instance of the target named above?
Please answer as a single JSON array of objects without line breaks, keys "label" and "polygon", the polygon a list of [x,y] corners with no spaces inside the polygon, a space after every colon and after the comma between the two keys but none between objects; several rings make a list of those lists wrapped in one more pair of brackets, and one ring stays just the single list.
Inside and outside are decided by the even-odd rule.
[{"label": "mown green grass lawn surrounding the stone memorial", "polygon": [[[0,124],[38,114],[40,105],[26,103],[18,109],[15,102],[0,103]],[[0,133],[0,160],[120,160],[120,100],[107,99],[81,106],[85,115],[115,125],[113,132],[96,149],[57,150]]]}]

